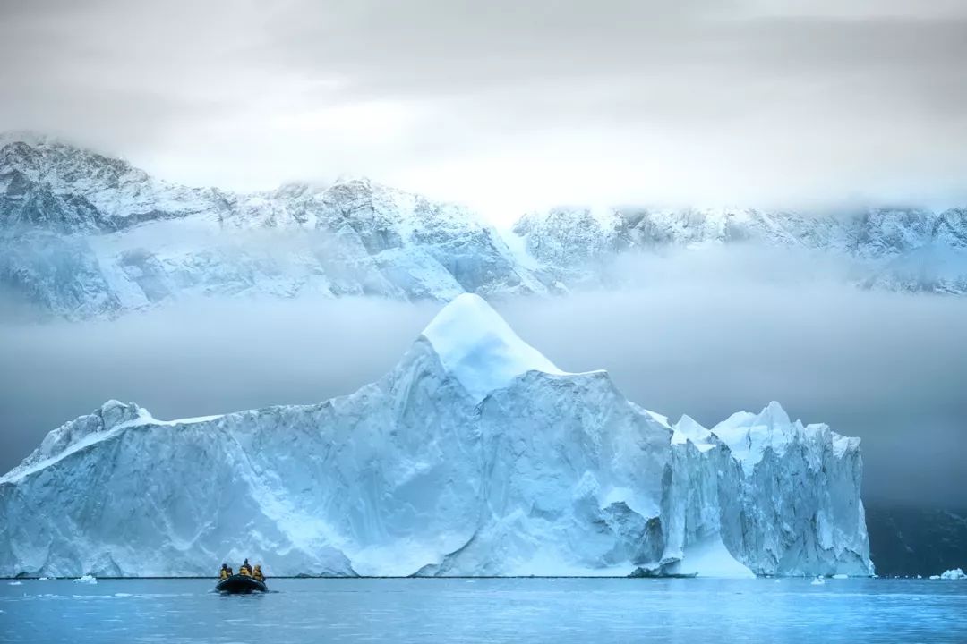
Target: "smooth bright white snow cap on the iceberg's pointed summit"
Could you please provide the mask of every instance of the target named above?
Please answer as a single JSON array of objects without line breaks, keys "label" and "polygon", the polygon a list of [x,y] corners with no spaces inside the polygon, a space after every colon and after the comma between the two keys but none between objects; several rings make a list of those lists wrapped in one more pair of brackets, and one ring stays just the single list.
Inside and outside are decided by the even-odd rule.
[{"label": "smooth bright white snow cap on the iceberg's pointed summit", "polygon": [[478,400],[529,371],[566,375],[541,351],[521,340],[477,294],[454,297],[426,326],[422,337],[444,369]]}]

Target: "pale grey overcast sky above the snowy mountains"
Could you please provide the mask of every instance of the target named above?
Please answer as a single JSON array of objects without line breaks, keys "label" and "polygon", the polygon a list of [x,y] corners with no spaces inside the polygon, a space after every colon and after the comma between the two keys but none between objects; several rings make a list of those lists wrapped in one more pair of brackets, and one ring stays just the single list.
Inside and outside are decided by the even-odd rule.
[{"label": "pale grey overcast sky above the snowy mountains", "polygon": [[967,201],[961,0],[0,4],[0,127],[178,182],[551,203]]}]

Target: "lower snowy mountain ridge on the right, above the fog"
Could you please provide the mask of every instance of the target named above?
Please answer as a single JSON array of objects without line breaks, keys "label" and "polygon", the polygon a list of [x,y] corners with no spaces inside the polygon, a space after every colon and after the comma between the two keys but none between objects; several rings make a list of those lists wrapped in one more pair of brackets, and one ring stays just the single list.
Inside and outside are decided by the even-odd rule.
[{"label": "lower snowy mountain ridge on the right, above the fog", "polygon": [[634,252],[793,249],[847,265],[864,288],[967,294],[967,209],[867,209],[825,214],[763,210],[556,208],[513,227],[545,281],[565,286],[620,283],[614,260]]}]

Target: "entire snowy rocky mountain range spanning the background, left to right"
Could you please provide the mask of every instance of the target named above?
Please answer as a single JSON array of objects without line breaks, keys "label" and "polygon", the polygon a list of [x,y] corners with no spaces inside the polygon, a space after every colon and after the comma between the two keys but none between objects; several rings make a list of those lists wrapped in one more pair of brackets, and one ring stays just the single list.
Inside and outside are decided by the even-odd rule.
[{"label": "entire snowy rocky mountain range spanning the background, left to right", "polygon": [[194,296],[446,300],[630,281],[668,249],[796,249],[862,288],[967,294],[967,209],[811,215],[555,208],[498,231],[475,212],[368,180],[235,193],[163,182],[38,136],[0,148],[0,287],[44,314],[116,317]]}]

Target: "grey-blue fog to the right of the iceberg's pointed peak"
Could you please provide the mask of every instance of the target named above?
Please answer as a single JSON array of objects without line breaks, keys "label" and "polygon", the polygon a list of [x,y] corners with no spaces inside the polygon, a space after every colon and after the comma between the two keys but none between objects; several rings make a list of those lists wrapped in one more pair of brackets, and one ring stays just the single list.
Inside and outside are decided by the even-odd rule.
[{"label": "grey-blue fog to the right of the iceberg's pointed peak", "polygon": [[864,497],[967,508],[967,301],[768,286],[580,294],[503,307],[562,369],[706,427],[777,400],[864,440]]}]

